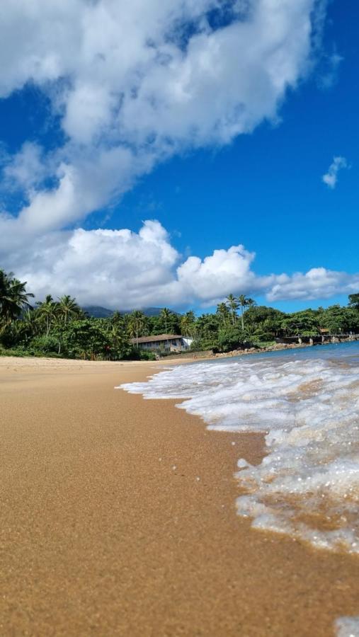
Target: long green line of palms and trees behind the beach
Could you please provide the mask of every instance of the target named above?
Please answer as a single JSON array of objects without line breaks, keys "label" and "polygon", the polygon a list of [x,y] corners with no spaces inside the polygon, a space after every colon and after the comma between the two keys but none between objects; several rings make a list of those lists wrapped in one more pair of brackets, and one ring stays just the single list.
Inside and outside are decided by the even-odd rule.
[{"label": "long green line of palms and trees behind the beach", "polygon": [[195,316],[164,308],[159,316],[114,311],[106,319],[84,312],[76,299],[64,295],[33,302],[12,272],[0,270],[0,353],[47,355],[103,360],[153,358],[138,347],[141,336],[182,334],[193,339],[193,350],[228,352],[263,347],[275,338],[320,333],[359,333],[359,293],[347,306],[306,309],[287,314],[241,294],[229,294],[213,313]]}]

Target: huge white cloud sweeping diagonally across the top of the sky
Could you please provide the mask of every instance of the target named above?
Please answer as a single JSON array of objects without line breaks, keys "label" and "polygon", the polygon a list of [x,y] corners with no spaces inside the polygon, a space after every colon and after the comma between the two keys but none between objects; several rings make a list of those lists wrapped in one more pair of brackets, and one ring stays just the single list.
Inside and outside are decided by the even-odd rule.
[{"label": "huge white cloud sweeping diagonally across the top of the sky", "polygon": [[6,178],[22,182],[28,199],[23,223],[67,226],[171,154],[227,144],[275,120],[287,88],[312,68],[325,4],[237,2],[232,19],[213,28],[208,11],[220,13],[220,0],[8,3],[0,97],[39,86],[67,139],[50,158],[25,145],[11,161]]}]

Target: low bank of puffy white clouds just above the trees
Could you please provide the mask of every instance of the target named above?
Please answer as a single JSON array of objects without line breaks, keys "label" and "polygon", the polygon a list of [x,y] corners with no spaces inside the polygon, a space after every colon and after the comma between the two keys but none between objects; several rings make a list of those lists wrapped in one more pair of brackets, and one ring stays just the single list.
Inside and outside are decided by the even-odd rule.
[{"label": "low bank of puffy white clouds just above the trees", "polygon": [[31,241],[16,224],[16,219],[0,224],[7,243],[3,264],[11,264],[39,299],[49,292],[72,294],[84,305],[132,309],[153,304],[210,306],[231,292],[266,294],[275,302],[324,299],[359,288],[359,274],[325,268],[258,276],[253,270],[255,253],[242,245],[216,249],[203,259],[184,259],[166,229],[153,220],[144,222],[138,233],[76,229],[50,231]]}]

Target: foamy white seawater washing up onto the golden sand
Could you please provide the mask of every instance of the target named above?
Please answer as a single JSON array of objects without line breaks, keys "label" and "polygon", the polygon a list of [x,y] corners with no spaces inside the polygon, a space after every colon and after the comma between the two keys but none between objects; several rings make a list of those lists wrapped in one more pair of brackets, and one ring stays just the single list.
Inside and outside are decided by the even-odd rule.
[{"label": "foamy white seawater washing up onto the golden sand", "polygon": [[238,445],[238,514],[318,549],[359,553],[358,342],[181,365],[121,388],[181,398],[211,430],[263,432],[261,464]]}]

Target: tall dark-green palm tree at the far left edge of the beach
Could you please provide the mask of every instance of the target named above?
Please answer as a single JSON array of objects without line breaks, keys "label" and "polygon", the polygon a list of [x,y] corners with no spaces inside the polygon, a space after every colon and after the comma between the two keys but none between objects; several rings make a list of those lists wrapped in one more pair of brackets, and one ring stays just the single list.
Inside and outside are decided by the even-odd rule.
[{"label": "tall dark-green palm tree at the far left edge of the beach", "polygon": [[0,323],[8,326],[20,316],[25,307],[31,307],[29,303],[33,294],[26,292],[26,282],[16,279],[13,272],[0,270]]}]

